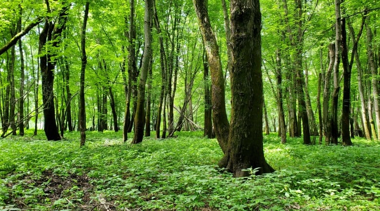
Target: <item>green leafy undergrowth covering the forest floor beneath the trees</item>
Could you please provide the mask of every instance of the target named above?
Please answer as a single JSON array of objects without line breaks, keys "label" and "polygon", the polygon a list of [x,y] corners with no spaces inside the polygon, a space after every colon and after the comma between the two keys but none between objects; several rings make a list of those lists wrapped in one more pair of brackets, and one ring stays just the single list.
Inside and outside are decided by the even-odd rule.
[{"label": "green leafy undergrowth covering the forest floor beneath the trees", "polygon": [[202,132],[137,145],[121,132],[88,132],[82,148],[77,132],[64,141],[38,133],[0,140],[0,211],[380,210],[377,141],[306,146],[270,134],[265,156],[276,172],[233,178],[216,168],[222,151]]}]

